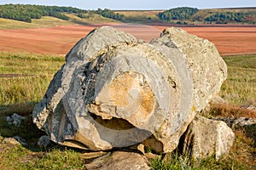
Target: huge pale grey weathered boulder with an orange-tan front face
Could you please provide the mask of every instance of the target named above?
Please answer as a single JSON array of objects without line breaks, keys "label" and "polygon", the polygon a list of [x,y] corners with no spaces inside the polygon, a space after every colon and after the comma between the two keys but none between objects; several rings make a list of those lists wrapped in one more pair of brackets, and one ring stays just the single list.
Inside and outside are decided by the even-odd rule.
[{"label": "huge pale grey weathered boulder with an orange-tan front face", "polygon": [[33,122],[58,144],[109,150],[150,137],[169,152],[225,78],[205,39],[168,28],[148,44],[103,26],[67,54]]}]

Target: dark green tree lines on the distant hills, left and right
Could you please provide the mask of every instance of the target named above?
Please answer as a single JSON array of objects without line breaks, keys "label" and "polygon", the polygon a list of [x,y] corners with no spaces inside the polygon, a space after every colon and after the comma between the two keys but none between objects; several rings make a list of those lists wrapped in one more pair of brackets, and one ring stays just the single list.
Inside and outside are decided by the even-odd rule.
[{"label": "dark green tree lines on the distant hills, left and right", "polygon": [[[235,13],[235,12],[208,12],[206,15],[197,14],[198,8],[171,8],[158,14],[160,20],[172,21],[187,24],[187,21],[204,21],[207,23],[255,23],[256,14]],[[69,20],[66,13],[76,14],[80,18],[90,18],[94,14],[100,14],[113,20],[125,21],[125,15],[114,13],[109,8],[98,8],[97,10],[84,10],[73,7],[58,7],[44,5],[5,4],[0,5],[0,18],[32,22],[32,19],[40,19],[42,16],[51,16],[61,20]]]}]

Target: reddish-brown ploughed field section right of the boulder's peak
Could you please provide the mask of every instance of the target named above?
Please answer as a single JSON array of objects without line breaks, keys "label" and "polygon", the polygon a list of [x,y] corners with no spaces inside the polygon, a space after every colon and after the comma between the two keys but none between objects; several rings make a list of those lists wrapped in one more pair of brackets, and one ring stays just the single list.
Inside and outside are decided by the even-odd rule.
[{"label": "reddish-brown ploughed field section right of the boulder's peak", "polygon": [[[165,26],[155,26],[161,31]],[[221,55],[256,54],[256,27],[183,27],[198,37],[207,38]]]}]

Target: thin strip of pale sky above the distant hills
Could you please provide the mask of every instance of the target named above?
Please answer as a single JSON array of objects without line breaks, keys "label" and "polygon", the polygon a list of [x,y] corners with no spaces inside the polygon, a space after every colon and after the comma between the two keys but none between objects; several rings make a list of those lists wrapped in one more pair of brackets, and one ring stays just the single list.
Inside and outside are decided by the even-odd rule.
[{"label": "thin strip of pale sky above the distant hills", "polygon": [[0,0],[0,4],[20,3],[57,5],[82,9],[110,8],[113,10],[152,10],[177,7],[237,8],[256,7],[256,0]]}]

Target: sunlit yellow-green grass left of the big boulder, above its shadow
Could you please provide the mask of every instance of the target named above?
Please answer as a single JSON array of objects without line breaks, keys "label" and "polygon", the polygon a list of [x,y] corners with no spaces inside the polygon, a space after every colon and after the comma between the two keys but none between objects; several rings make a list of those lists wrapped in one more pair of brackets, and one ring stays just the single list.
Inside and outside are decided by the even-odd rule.
[{"label": "sunlit yellow-green grass left of the big boulder, above its shadow", "polygon": [[38,102],[64,56],[0,53],[0,105]]}]

